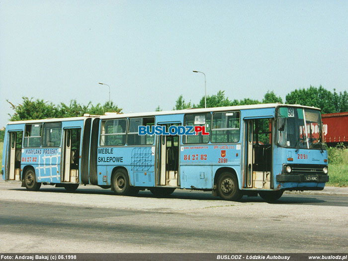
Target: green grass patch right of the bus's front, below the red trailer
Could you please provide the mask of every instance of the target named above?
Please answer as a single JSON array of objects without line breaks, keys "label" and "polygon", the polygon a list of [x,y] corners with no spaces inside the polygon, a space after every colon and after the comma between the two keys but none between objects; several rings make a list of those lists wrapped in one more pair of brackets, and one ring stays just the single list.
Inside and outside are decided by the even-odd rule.
[{"label": "green grass patch right of the bus's front, below the red trailer", "polygon": [[338,146],[328,149],[329,186],[348,186],[348,149]]}]

